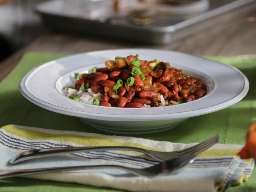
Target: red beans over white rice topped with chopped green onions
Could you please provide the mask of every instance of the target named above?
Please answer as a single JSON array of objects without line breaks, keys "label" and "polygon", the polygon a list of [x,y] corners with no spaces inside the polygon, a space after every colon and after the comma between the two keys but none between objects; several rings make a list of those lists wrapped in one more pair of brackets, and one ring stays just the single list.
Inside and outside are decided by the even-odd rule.
[{"label": "red beans over white rice topped with chopped green onions", "polygon": [[168,62],[117,56],[88,73],[75,73],[63,94],[82,103],[105,107],[163,107],[194,101],[206,94],[197,78]]}]

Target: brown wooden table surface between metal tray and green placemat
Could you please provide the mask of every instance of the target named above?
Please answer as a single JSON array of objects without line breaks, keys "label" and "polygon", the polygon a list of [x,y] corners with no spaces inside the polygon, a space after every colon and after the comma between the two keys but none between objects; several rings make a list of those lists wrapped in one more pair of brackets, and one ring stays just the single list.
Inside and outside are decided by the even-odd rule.
[{"label": "brown wooden table surface between metal tray and green placemat", "polygon": [[256,10],[165,45],[106,40],[106,38],[67,32],[49,32],[1,62],[0,81],[12,70],[26,51],[79,53],[114,48],[156,48],[215,56],[256,54]]}]

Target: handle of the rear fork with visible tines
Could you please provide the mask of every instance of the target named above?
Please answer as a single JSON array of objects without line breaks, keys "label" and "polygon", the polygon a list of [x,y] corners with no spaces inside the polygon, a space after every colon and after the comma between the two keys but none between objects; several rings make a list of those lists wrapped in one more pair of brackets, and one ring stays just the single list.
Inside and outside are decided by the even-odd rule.
[{"label": "handle of the rear fork with visible tines", "polygon": [[150,157],[154,158],[157,161],[163,161],[160,158],[153,156],[150,151],[146,149],[137,148],[137,147],[60,147],[60,148],[46,148],[46,149],[32,149],[28,151],[23,151],[18,154],[15,158],[10,160],[10,164],[14,165],[22,161],[41,158],[41,157],[50,157],[55,155],[64,155],[64,154],[71,154],[77,152],[89,152],[89,151],[137,151],[142,152],[144,154],[149,155]]}]

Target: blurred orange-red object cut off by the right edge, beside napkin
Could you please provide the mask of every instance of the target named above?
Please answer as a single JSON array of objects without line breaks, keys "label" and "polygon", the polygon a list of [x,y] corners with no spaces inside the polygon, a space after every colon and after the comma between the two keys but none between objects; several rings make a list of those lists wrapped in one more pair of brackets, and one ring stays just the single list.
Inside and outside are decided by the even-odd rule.
[{"label": "blurred orange-red object cut off by the right edge, beside napkin", "polygon": [[239,155],[241,159],[256,159],[256,123],[249,127],[246,136],[246,145],[237,155]]}]

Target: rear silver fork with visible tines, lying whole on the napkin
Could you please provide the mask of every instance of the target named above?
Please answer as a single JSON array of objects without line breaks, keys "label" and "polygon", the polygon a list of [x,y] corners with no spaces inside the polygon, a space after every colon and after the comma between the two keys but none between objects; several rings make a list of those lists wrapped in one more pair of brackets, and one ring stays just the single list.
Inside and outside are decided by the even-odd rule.
[{"label": "rear silver fork with visible tines, lying whole on the napkin", "polygon": [[170,152],[161,152],[161,151],[152,151],[148,149],[142,149],[137,147],[61,147],[61,148],[44,148],[44,149],[32,149],[28,151],[23,151],[18,154],[15,158],[10,160],[10,164],[14,165],[22,161],[49,157],[54,155],[63,155],[77,152],[89,152],[89,151],[116,151],[116,150],[125,150],[125,151],[137,151],[149,155],[157,161],[163,162],[170,160],[175,157],[186,154],[199,154],[205,149],[211,147],[219,141],[219,135],[215,135],[212,138],[207,139],[197,145],[194,145],[187,149],[182,149],[179,151],[170,151]]}]

